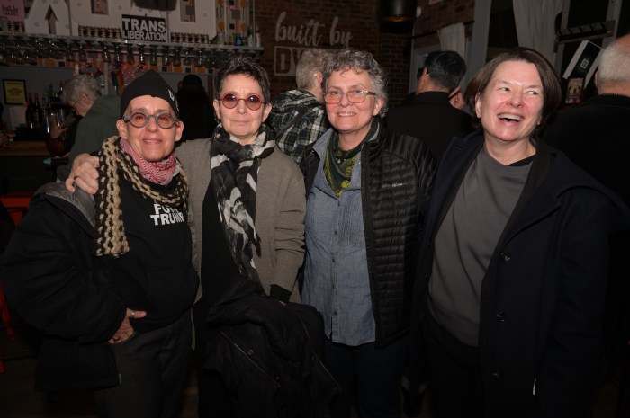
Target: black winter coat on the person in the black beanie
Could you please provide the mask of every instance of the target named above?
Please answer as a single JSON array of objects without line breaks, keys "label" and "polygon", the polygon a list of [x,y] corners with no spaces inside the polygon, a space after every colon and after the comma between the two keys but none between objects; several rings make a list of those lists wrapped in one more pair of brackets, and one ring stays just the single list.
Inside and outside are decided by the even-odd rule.
[{"label": "black winter coat on the person in the black beanie", "polygon": [[125,307],[92,255],[94,200],[84,191],[66,192],[62,183],[40,192],[0,259],[9,304],[43,333],[35,388],[116,386],[118,369],[107,341]]}]

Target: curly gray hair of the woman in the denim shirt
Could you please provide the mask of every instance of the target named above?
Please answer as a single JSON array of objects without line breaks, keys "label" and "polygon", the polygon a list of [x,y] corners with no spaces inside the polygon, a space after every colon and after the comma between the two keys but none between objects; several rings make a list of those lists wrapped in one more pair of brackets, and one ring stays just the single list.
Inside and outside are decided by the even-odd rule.
[{"label": "curly gray hair of the woman in the denim shirt", "polygon": [[367,51],[351,48],[340,49],[324,61],[324,67],[321,70],[324,76],[321,81],[322,91],[326,92],[332,73],[345,70],[353,70],[357,73],[367,72],[376,97],[383,99],[383,107],[379,113],[379,116],[383,117],[387,112],[387,72],[385,69]]}]

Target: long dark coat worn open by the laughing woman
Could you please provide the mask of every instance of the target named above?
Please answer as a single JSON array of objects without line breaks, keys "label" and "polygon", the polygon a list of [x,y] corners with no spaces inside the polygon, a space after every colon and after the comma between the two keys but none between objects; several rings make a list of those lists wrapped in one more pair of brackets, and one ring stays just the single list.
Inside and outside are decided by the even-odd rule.
[{"label": "long dark coat worn open by the laughing woman", "polygon": [[[440,161],[414,289],[414,326],[426,309],[434,238],[482,144],[481,132],[457,138]],[[562,152],[538,144],[482,282],[484,416],[584,416],[600,366],[608,235],[628,227],[630,210],[614,193]],[[413,341],[411,347],[417,361],[419,349]]]}]

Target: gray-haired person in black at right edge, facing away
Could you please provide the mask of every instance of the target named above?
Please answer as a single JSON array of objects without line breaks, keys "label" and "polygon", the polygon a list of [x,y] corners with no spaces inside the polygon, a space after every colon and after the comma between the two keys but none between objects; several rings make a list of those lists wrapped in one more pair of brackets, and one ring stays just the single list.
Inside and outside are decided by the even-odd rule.
[{"label": "gray-haired person in black at right edge, facing away", "polygon": [[[614,40],[601,53],[595,84],[598,95],[558,111],[545,130],[545,141],[615,191],[630,206],[630,35]],[[630,340],[630,233],[614,236],[608,268],[608,309],[604,322],[607,357],[617,370]]]}]

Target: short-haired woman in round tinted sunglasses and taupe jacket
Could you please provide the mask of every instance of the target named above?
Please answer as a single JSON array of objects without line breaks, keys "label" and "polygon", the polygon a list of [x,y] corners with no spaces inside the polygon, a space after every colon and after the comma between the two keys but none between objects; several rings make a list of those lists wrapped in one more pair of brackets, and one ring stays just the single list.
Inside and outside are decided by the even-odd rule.
[{"label": "short-haired woman in round tinted sunglasses and taupe jacket", "polygon": [[[202,282],[193,314],[199,416],[247,416],[243,408],[264,406],[251,393],[249,402],[238,401],[242,392],[235,396],[216,373],[217,363],[231,366],[216,352],[224,324],[216,315],[211,324],[208,318],[230,316],[229,302],[244,294],[247,309],[256,307],[264,316],[283,314],[277,309],[286,307],[278,301],[299,300],[294,285],[304,254],[304,183],[264,123],[271,111],[265,69],[243,56],[230,58],[214,78],[214,92],[220,124],[212,138],[177,149],[191,184],[189,219]],[[204,367],[209,361],[215,372]],[[232,372],[238,374],[236,367]]]}]

